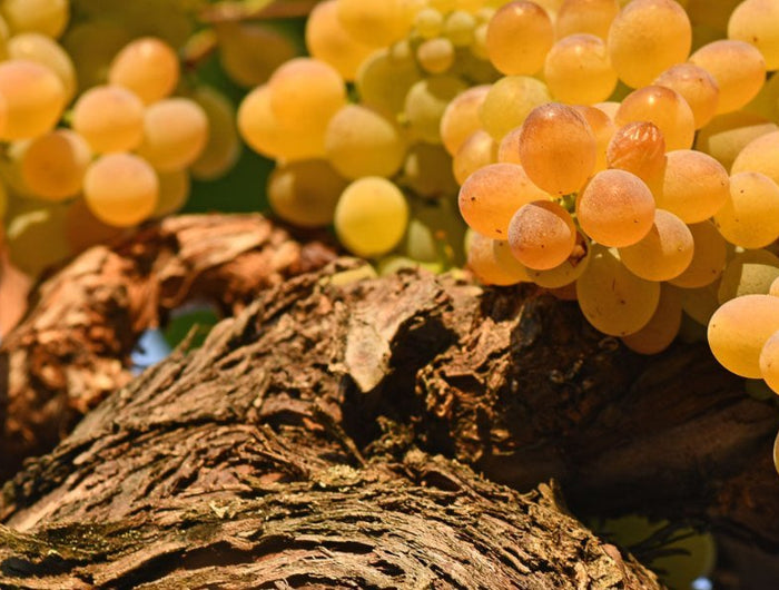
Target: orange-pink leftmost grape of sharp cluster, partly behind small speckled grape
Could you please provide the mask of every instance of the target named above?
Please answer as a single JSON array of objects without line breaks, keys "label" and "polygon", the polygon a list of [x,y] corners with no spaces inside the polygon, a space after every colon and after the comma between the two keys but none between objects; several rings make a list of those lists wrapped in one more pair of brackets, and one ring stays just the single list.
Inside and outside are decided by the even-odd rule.
[{"label": "orange-pink leftmost grape of sharp cluster, partly behind small speckled grape", "polygon": [[516,209],[534,200],[550,200],[519,164],[491,164],[467,177],[460,189],[460,213],[465,223],[494,239],[509,237]]}]

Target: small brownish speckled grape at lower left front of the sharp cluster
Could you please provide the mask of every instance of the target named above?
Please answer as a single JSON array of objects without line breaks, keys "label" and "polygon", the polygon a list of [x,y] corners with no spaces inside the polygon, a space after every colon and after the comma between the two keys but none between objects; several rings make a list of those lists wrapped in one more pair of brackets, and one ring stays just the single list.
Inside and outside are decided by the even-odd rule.
[{"label": "small brownish speckled grape at lower left front of the sharp cluster", "polygon": [[509,246],[527,268],[548,271],[563,264],[573,252],[576,228],[571,214],[551,200],[520,207],[509,224]]}]

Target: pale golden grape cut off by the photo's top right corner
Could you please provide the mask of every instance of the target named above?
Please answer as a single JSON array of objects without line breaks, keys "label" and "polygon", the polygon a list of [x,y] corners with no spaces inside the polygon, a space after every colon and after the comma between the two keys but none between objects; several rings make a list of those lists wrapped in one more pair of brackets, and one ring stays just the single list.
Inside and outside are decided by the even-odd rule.
[{"label": "pale golden grape cut off by the photo's top right corner", "polygon": [[745,0],[730,14],[728,39],[753,45],[769,71],[779,69],[779,4],[772,0]]}]

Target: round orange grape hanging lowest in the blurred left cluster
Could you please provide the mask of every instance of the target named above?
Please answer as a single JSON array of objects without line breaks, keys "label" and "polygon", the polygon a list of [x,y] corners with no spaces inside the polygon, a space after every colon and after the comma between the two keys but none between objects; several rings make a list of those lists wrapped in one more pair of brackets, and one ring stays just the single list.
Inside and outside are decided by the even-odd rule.
[{"label": "round orange grape hanging lowest in the blurred left cluster", "polygon": [[128,227],[154,213],[159,180],[145,159],[132,154],[107,154],[87,169],[83,197],[98,219]]}]

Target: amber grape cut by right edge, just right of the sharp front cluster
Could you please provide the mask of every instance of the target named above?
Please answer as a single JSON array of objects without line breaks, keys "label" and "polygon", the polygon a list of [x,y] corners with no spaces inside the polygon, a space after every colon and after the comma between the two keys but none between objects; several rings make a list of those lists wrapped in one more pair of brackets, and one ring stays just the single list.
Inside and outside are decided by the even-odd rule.
[{"label": "amber grape cut by right edge, just right of the sharp front cluster", "polygon": [[730,177],[730,198],[714,215],[722,237],[743,248],[762,248],[779,238],[779,186],[760,173]]}]

